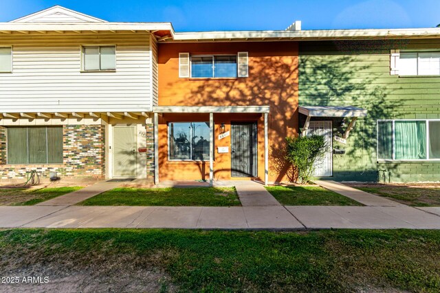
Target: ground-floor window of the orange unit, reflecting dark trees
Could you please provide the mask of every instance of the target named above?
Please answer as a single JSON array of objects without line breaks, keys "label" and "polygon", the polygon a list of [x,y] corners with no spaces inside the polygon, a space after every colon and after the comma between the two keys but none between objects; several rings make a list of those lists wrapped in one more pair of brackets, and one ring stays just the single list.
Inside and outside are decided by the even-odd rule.
[{"label": "ground-floor window of the orange unit, reflecting dark trees", "polygon": [[170,122],[168,124],[168,159],[209,160],[209,122]]}]

